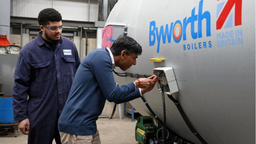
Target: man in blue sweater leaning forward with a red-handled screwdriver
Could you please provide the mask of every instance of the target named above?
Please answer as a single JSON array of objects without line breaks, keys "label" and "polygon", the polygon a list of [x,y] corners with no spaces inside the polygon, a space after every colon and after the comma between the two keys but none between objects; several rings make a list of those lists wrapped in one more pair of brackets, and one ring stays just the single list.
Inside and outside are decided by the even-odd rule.
[{"label": "man in blue sweater leaning forward with a red-handled screwdriver", "polygon": [[[62,144],[100,144],[96,120],[106,100],[116,104],[134,100],[153,89],[157,77],[139,78],[116,86],[112,70],[136,65],[140,44],[128,36],[119,37],[111,49],[90,52],[77,69],[58,127]],[[141,88],[141,89],[140,89]]]}]

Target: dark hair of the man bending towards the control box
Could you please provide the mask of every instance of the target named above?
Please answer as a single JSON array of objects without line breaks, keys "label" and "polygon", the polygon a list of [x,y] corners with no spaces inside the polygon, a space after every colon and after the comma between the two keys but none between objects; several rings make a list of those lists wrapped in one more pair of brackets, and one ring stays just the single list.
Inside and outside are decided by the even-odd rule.
[{"label": "dark hair of the man bending towards the control box", "polygon": [[113,55],[120,55],[123,50],[126,51],[127,55],[135,53],[141,55],[142,48],[132,37],[121,35],[112,44],[110,48]]}]

